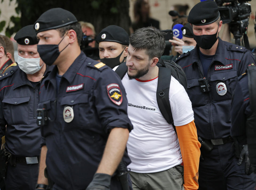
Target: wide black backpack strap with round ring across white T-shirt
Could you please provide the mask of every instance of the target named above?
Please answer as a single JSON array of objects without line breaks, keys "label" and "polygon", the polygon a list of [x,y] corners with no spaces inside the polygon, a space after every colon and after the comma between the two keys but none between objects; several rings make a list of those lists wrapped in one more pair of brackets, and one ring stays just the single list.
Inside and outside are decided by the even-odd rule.
[{"label": "wide black backpack strap with round ring across white T-shirt", "polygon": [[157,83],[157,104],[163,117],[169,124],[173,124],[173,116],[171,114],[171,105],[169,100],[169,90],[171,82],[171,69],[166,67],[158,67],[158,83]]}]

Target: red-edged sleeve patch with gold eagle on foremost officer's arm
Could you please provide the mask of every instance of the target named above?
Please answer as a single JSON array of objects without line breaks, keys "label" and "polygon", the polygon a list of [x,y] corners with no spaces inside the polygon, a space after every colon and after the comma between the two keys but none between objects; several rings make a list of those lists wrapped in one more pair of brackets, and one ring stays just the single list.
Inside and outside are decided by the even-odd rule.
[{"label": "red-edged sleeve patch with gold eagle on foremost officer's arm", "polygon": [[118,84],[112,83],[107,85],[107,94],[110,100],[118,106],[123,102],[122,92]]}]

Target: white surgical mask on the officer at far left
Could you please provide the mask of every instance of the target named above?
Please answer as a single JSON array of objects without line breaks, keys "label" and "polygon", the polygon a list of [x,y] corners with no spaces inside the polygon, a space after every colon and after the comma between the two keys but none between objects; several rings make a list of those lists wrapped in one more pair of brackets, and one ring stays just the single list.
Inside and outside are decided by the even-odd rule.
[{"label": "white surgical mask on the officer at far left", "polygon": [[18,55],[18,66],[19,68],[24,71],[26,74],[34,74],[39,71],[42,66],[40,67],[40,57],[39,58],[23,58]]}]

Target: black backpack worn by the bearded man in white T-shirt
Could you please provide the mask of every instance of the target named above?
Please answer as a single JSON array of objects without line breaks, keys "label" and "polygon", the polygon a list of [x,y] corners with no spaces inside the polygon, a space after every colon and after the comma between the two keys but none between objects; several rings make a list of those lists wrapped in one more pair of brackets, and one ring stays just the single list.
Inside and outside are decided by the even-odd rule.
[{"label": "black backpack worn by the bearded man in white T-shirt", "polygon": [[[157,104],[163,117],[169,124],[173,125],[173,128],[176,132],[176,128],[173,123],[173,116],[171,114],[171,105],[169,101],[171,76],[178,80],[186,91],[187,77],[182,68],[171,60],[159,59],[157,66],[159,67],[157,83]],[[117,67],[115,72],[122,79],[125,76],[127,69],[128,68],[126,66],[126,63],[124,62]]]}]

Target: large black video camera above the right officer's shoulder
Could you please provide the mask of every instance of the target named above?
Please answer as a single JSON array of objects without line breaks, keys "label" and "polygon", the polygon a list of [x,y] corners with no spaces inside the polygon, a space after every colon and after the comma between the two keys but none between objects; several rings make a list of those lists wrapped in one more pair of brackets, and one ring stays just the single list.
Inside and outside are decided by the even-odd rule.
[{"label": "large black video camera above the right officer's shoulder", "polygon": [[[251,0],[215,0],[219,6],[221,20],[223,24],[229,23],[229,30],[234,35],[237,45],[240,45],[240,38],[246,33],[249,25],[251,5],[248,1]],[[223,3],[230,4],[222,6]]]}]

